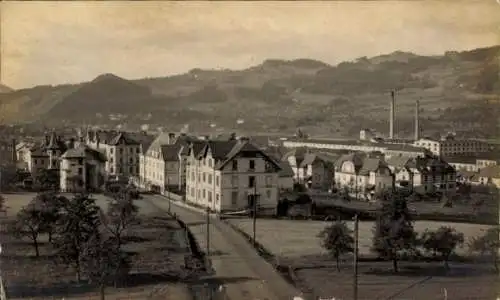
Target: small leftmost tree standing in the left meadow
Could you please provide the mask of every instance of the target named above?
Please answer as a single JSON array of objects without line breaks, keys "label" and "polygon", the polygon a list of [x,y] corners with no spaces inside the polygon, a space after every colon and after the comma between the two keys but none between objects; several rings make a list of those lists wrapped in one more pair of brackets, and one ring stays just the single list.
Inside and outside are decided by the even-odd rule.
[{"label": "small leftmost tree standing in the left meadow", "polygon": [[18,238],[28,237],[35,248],[36,257],[40,256],[38,239],[45,230],[45,218],[43,211],[35,203],[23,207],[17,214],[14,223],[14,233]]}]

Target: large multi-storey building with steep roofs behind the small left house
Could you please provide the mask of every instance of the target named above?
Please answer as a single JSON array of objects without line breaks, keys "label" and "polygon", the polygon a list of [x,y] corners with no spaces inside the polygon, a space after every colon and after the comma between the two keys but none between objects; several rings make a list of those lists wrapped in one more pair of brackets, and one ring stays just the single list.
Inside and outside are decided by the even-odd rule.
[{"label": "large multi-storey building with steep roofs behind the small left house", "polygon": [[87,131],[85,143],[106,155],[106,172],[110,175],[139,177],[141,153],[154,137],[147,133],[120,131]]}]

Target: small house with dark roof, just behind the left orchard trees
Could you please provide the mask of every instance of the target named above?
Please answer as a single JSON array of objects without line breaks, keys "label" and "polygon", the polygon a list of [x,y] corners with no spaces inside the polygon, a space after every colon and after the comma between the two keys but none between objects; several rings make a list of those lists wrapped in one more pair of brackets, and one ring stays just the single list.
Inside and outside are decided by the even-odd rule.
[{"label": "small house with dark roof, just behind the left orchard trees", "polygon": [[106,180],[105,155],[88,146],[70,148],[60,160],[60,189],[63,192],[100,190]]}]

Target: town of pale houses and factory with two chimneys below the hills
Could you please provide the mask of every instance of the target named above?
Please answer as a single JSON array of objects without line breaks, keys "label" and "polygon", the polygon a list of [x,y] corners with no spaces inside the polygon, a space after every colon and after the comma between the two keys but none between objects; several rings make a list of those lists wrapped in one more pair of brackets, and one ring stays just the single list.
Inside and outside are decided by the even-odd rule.
[{"label": "town of pale houses and factory with two chimneys below the hills", "polygon": [[[120,191],[133,191],[130,195],[135,196],[130,199],[151,202],[148,209],[173,213],[179,222],[206,222],[206,230],[196,236],[197,240],[207,239],[206,255],[211,245],[210,221],[204,221],[205,214],[228,222],[228,228],[255,245],[259,231],[272,232],[278,228],[274,226],[284,226],[266,223],[276,218],[292,223],[304,219],[374,220],[387,195],[393,199],[394,193],[403,195],[417,222],[496,224],[500,184],[497,146],[458,139],[453,133],[441,139],[426,137],[419,122],[418,101],[414,138],[398,139],[394,133],[395,110],[393,92],[388,103],[388,134],[361,129],[357,140],[318,139],[300,128],[294,136],[240,136],[234,132],[200,136],[186,127],[156,134],[87,127],[64,135],[53,130],[38,139],[12,137],[2,146],[3,210],[11,209],[9,197],[18,194],[33,195],[31,201],[35,202],[49,197],[43,196],[47,193],[75,195],[78,201],[89,197],[85,195],[123,201]],[[29,207],[27,202],[24,205],[21,212]],[[198,215],[193,217],[188,210]],[[253,218],[253,229],[247,226],[248,217]],[[300,220],[294,221],[297,218]],[[299,224],[286,226],[304,226]],[[332,226],[344,228],[345,223]],[[450,226],[433,233],[429,231],[432,225],[427,224],[422,230],[447,236],[450,240],[442,237],[443,241],[437,241],[451,243],[446,253],[453,252],[465,238],[477,239],[474,235],[480,233],[464,233]],[[342,230],[349,232],[347,228]],[[212,235],[217,236],[216,232]],[[492,232],[487,233],[490,239]],[[494,236],[496,239],[498,235]],[[264,243],[262,247],[273,247],[266,244],[270,243],[268,238],[259,240]],[[349,241],[346,243],[348,249]],[[484,249],[477,243],[475,247]],[[327,250],[337,246],[323,244]],[[444,251],[439,248],[442,246],[429,247]],[[339,255],[347,250],[338,251]]]}]

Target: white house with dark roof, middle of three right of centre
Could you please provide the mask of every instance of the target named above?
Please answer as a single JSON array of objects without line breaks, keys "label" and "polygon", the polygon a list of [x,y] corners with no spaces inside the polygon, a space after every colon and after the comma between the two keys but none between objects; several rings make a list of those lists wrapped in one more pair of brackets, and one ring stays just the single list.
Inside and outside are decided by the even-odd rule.
[{"label": "white house with dark roof, middle of three right of centre", "polygon": [[381,158],[363,153],[342,155],[335,163],[335,185],[347,188],[356,197],[371,198],[371,194],[392,188],[393,175]]}]

